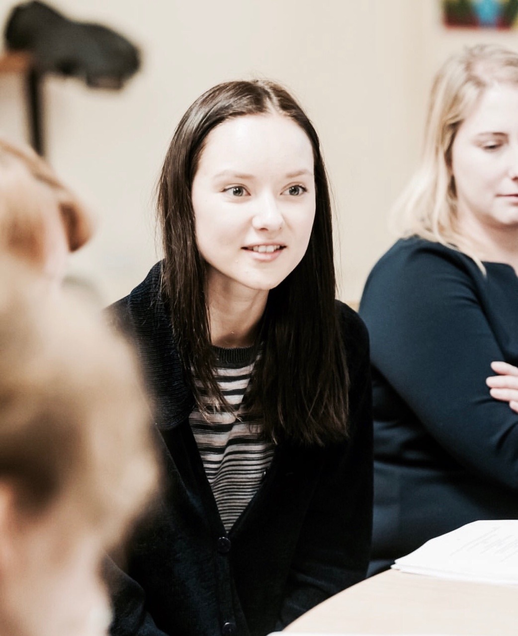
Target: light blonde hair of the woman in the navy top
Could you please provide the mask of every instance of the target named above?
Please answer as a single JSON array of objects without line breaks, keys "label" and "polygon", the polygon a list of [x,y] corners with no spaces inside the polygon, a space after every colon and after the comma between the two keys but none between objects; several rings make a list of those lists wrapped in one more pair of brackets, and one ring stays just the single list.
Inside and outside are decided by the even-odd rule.
[{"label": "light blonde hair of the woman in the navy top", "polygon": [[393,208],[401,235],[417,235],[458,249],[482,270],[477,245],[456,227],[451,152],[466,114],[495,83],[518,85],[517,53],[500,46],[477,45],[445,62],[431,89],[420,165]]}]

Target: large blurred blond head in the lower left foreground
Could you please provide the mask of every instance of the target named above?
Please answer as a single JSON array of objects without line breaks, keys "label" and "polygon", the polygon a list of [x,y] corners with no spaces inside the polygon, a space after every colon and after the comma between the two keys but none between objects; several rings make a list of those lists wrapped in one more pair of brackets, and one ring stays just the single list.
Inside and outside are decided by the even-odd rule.
[{"label": "large blurred blond head in the lower left foreground", "polygon": [[157,483],[132,351],[0,260],[0,633],[101,636],[104,551]]}]

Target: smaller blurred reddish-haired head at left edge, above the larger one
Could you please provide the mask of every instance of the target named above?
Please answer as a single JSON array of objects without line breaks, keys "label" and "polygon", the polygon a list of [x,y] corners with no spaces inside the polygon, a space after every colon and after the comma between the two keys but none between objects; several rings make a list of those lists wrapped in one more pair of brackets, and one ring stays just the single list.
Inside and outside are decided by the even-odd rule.
[{"label": "smaller blurred reddish-haired head at left edge, above the larger one", "polygon": [[69,252],[92,235],[92,219],[29,146],[0,138],[0,251],[63,278]]}]

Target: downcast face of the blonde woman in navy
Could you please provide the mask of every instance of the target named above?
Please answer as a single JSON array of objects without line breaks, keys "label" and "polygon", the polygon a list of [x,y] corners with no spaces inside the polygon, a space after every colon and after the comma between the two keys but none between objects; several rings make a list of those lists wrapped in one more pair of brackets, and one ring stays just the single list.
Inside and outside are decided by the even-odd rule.
[{"label": "downcast face of the blonde woman in navy", "polygon": [[488,88],[460,125],[452,174],[461,232],[518,231],[518,87]]}]

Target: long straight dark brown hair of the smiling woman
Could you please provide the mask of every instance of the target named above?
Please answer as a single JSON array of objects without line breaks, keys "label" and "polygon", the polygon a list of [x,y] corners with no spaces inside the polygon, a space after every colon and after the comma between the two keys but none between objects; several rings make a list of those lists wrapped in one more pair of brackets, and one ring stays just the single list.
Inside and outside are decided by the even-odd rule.
[{"label": "long straight dark brown hair of the smiling woman", "polygon": [[197,247],[191,190],[207,135],[251,114],[279,113],[295,121],[314,155],[316,215],[309,245],[295,270],[269,292],[246,404],[260,414],[265,436],[321,445],[347,431],[347,365],[335,308],[332,212],[318,135],[302,108],[270,81],[214,86],[188,108],[165,157],[158,184],[164,240],[164,291],[186,377],[203,405],[192,373],[221,403],[205,296],[206,266]]}]

